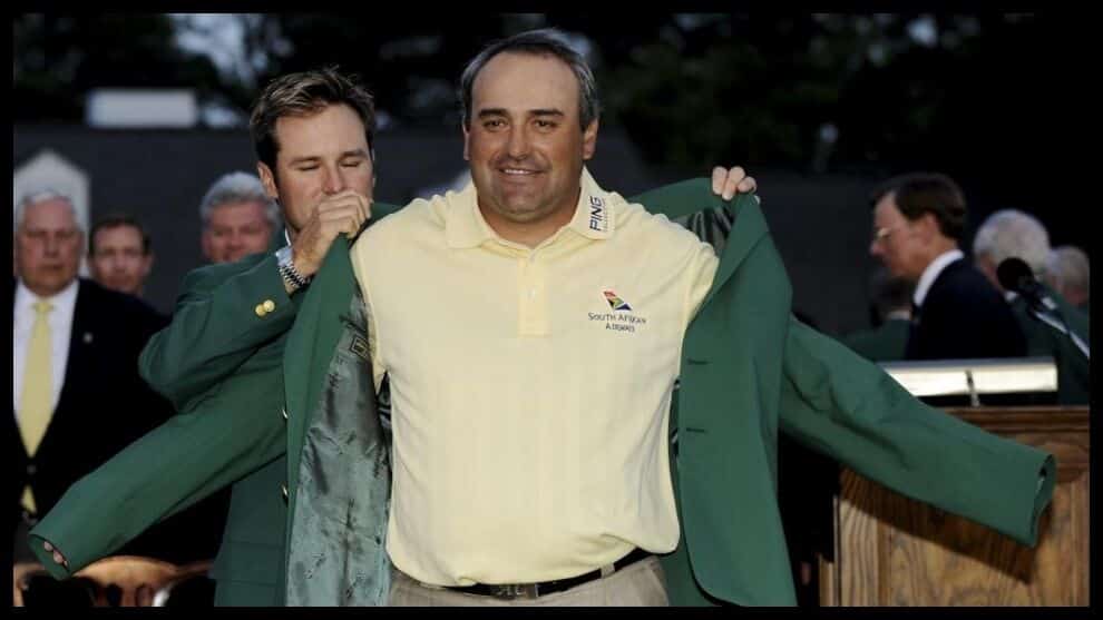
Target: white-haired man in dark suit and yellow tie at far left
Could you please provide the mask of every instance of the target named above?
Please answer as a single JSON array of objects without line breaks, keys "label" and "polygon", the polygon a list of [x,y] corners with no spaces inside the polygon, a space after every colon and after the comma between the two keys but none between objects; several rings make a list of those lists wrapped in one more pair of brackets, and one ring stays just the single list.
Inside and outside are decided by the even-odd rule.
[{"label": "white-haired man in dark suit and yellow tie at far left", "polygon": [[[28,559],[26,531],[38,515],[170,409],[137,366],[166,317],[78,277],[85,237],[71,200],[53,190],[30,193],[16,206],[13,233],[16,486],[8,522],[18,562]],[[130,548],[140,545],[139,539]]]}]

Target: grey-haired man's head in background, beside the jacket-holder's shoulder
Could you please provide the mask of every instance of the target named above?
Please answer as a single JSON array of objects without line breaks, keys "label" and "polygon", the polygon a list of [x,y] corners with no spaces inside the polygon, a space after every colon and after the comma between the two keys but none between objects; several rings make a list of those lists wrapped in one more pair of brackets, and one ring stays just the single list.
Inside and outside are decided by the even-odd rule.
[{"label": "grey-haired man's head in background, beside the jacket-holder's shoulder", "polygon": [[211,263],[233,263],[266,252],[280,229],[280,208],[248,173],[218,177],[199,203],[203,256]]}]

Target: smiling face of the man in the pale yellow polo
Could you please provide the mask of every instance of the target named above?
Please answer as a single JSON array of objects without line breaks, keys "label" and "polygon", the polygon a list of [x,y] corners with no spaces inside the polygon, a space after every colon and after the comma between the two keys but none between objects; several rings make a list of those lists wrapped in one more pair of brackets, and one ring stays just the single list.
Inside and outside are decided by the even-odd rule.
[{"label": "smiling face of the man in the pale yellow polo", "polygon": [[479,209],[506,238],[546,238],[570,220],[583,163],[594,155],[597,121],[583,130],[578,80],[554,56],[504,52],[479,71],[463,156]]}]

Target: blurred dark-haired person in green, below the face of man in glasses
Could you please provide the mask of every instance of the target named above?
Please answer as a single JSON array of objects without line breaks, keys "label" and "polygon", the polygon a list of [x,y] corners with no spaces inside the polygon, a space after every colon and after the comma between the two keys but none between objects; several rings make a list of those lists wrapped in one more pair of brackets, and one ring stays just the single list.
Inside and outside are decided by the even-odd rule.
[{"label": "blurred dark-haired person in green, below the face of man in glasses", "polygon": [[879,267],[869,279],[870,315],[873,326],[848,334],[842,343],[872,362],[904,360],[911,326],[911,295],[915,286]]}]

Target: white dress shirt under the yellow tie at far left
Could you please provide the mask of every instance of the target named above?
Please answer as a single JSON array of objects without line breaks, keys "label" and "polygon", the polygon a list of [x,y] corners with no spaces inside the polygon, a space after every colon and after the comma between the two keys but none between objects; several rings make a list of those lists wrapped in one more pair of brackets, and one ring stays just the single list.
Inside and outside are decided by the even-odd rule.
[{"label": "white dress shirt under the yellow tie at far left", "polygon": [[23,285],[22,281],[16,286],[14,322],[11,337],[11,396],[16,420],[19,420],[19,400],[23,393],[23,372],[27,364],[27,345],[30,343],[31,329],[35,326],[35,304],[46,301],[53,305],[50,309],[50,362],[53,371],[51,386],[53,388],[52,407],[57,409],[65,385],[65,370],[69,361],[69,334],[72,331],[72,314],[77,306],[77,286],[79,279],[74,279],[69,286],[52,297],[39,297]]}]

